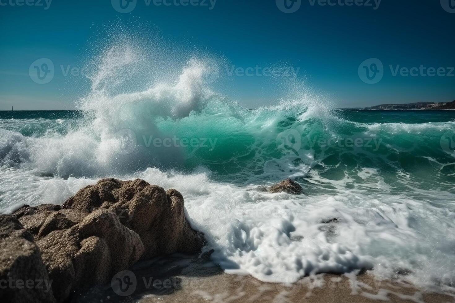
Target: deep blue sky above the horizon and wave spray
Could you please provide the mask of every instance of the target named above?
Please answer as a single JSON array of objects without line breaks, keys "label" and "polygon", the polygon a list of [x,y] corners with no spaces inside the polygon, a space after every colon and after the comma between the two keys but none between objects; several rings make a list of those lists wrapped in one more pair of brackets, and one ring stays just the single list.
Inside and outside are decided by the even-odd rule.
[{"label": "deep blue sky above the horizon and wave spray", "polygon": [[[60,66],[83,67],[118,24],[136,37],[147,33],[146,43],[157,36],[173,51],[223,58],[221,73],[232,67],[298,69],[295,80],[280,70],[224,75],[213,84],[251,108],[286,98],[294,82],[339,107],[455,99],[454,0],[356,0],[350,6],[354,0],[132,0],[136,6],[128,13],[114,9],[115,1],[125,0],[27,1],[0,0],[0,110],[75,108],[90,81],[65,76]],[[284,1],[291,10],[300,6],[285,13]],[[40,58],[55,68],[45,84],[29,74]],[[362,75],[375,75],[378,61],[370,58],[383,65],[373,80]]]}]

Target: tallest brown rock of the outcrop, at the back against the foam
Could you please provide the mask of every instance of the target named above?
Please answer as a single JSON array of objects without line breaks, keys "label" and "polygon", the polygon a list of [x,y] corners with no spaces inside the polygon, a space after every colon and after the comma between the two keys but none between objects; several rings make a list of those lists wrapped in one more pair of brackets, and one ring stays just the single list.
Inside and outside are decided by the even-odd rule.
[{"label": "tallest brown rock of the outcrop, at the back against the foam", "polygon": [[142,258],[197,253],[204,243],[202,233],[194,231],[185,217],[182,195],[175,189],[165,192],[142,179],[102,179],[68,198],[62,207],[87,213],[94,209],[116,212],[121,223],[141,237],[145,247]]}]

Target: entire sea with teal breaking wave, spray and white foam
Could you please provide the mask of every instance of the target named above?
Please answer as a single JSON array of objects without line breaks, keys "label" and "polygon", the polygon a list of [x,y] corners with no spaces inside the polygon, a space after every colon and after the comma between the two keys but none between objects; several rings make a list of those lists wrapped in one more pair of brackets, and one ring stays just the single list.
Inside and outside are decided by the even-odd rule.
[{"label": "entire sea with teal breaking wave, spray and white foam", "polygon": [[[173,82],[119,91],[115,73],[134,60],[101,60],[80,110],[0,112],[1,213],[142,178],[183,194],[227,273],[292,282],[372,269],[450,287],[455,111],[336,110],[304,94],[246,109],[210,89],[196,59]],[[304,194],[264,191],[286,178]]]}]

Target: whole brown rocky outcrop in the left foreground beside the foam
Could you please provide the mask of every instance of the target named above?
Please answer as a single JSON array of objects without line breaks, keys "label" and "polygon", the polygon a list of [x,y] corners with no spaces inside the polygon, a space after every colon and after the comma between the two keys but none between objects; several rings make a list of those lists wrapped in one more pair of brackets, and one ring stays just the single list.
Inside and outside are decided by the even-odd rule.
[{"label": "whole brown rocky outcrop in the left foreground beside the foam", "polygon": [[[1,277],[17,272],[30,278],[25,268],[33,268],[33,276],[52,282],[42,302],[62,302],[75,290],[107,283],[140,258],[195,253],[203,245],[202,233],[185,218],[182,195],[140,179],[103,179],[62,207],[26,205],[0,218]],[[14,265],[10,258],[25,261]],[[35,290],[30,293],[33,300],[26,293],[20,299],[36,302]],[[15,299],[15,292],[8,296]]]}]

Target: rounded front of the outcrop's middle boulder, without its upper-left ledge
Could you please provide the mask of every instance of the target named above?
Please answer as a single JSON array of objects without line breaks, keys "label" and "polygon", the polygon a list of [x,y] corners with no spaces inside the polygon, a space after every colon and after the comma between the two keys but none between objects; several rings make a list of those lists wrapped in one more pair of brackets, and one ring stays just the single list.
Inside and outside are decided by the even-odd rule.
[{"label": "rounded front of the outcrop's middle boulder, without its upper-left ledge", "polygon": [[105,209],[88,214],[71,228],[38,237],[36,243],[49,277],[55,281],[52,289],[59,302],[76,289],[107,283],[144,252],[139,235]]}]

